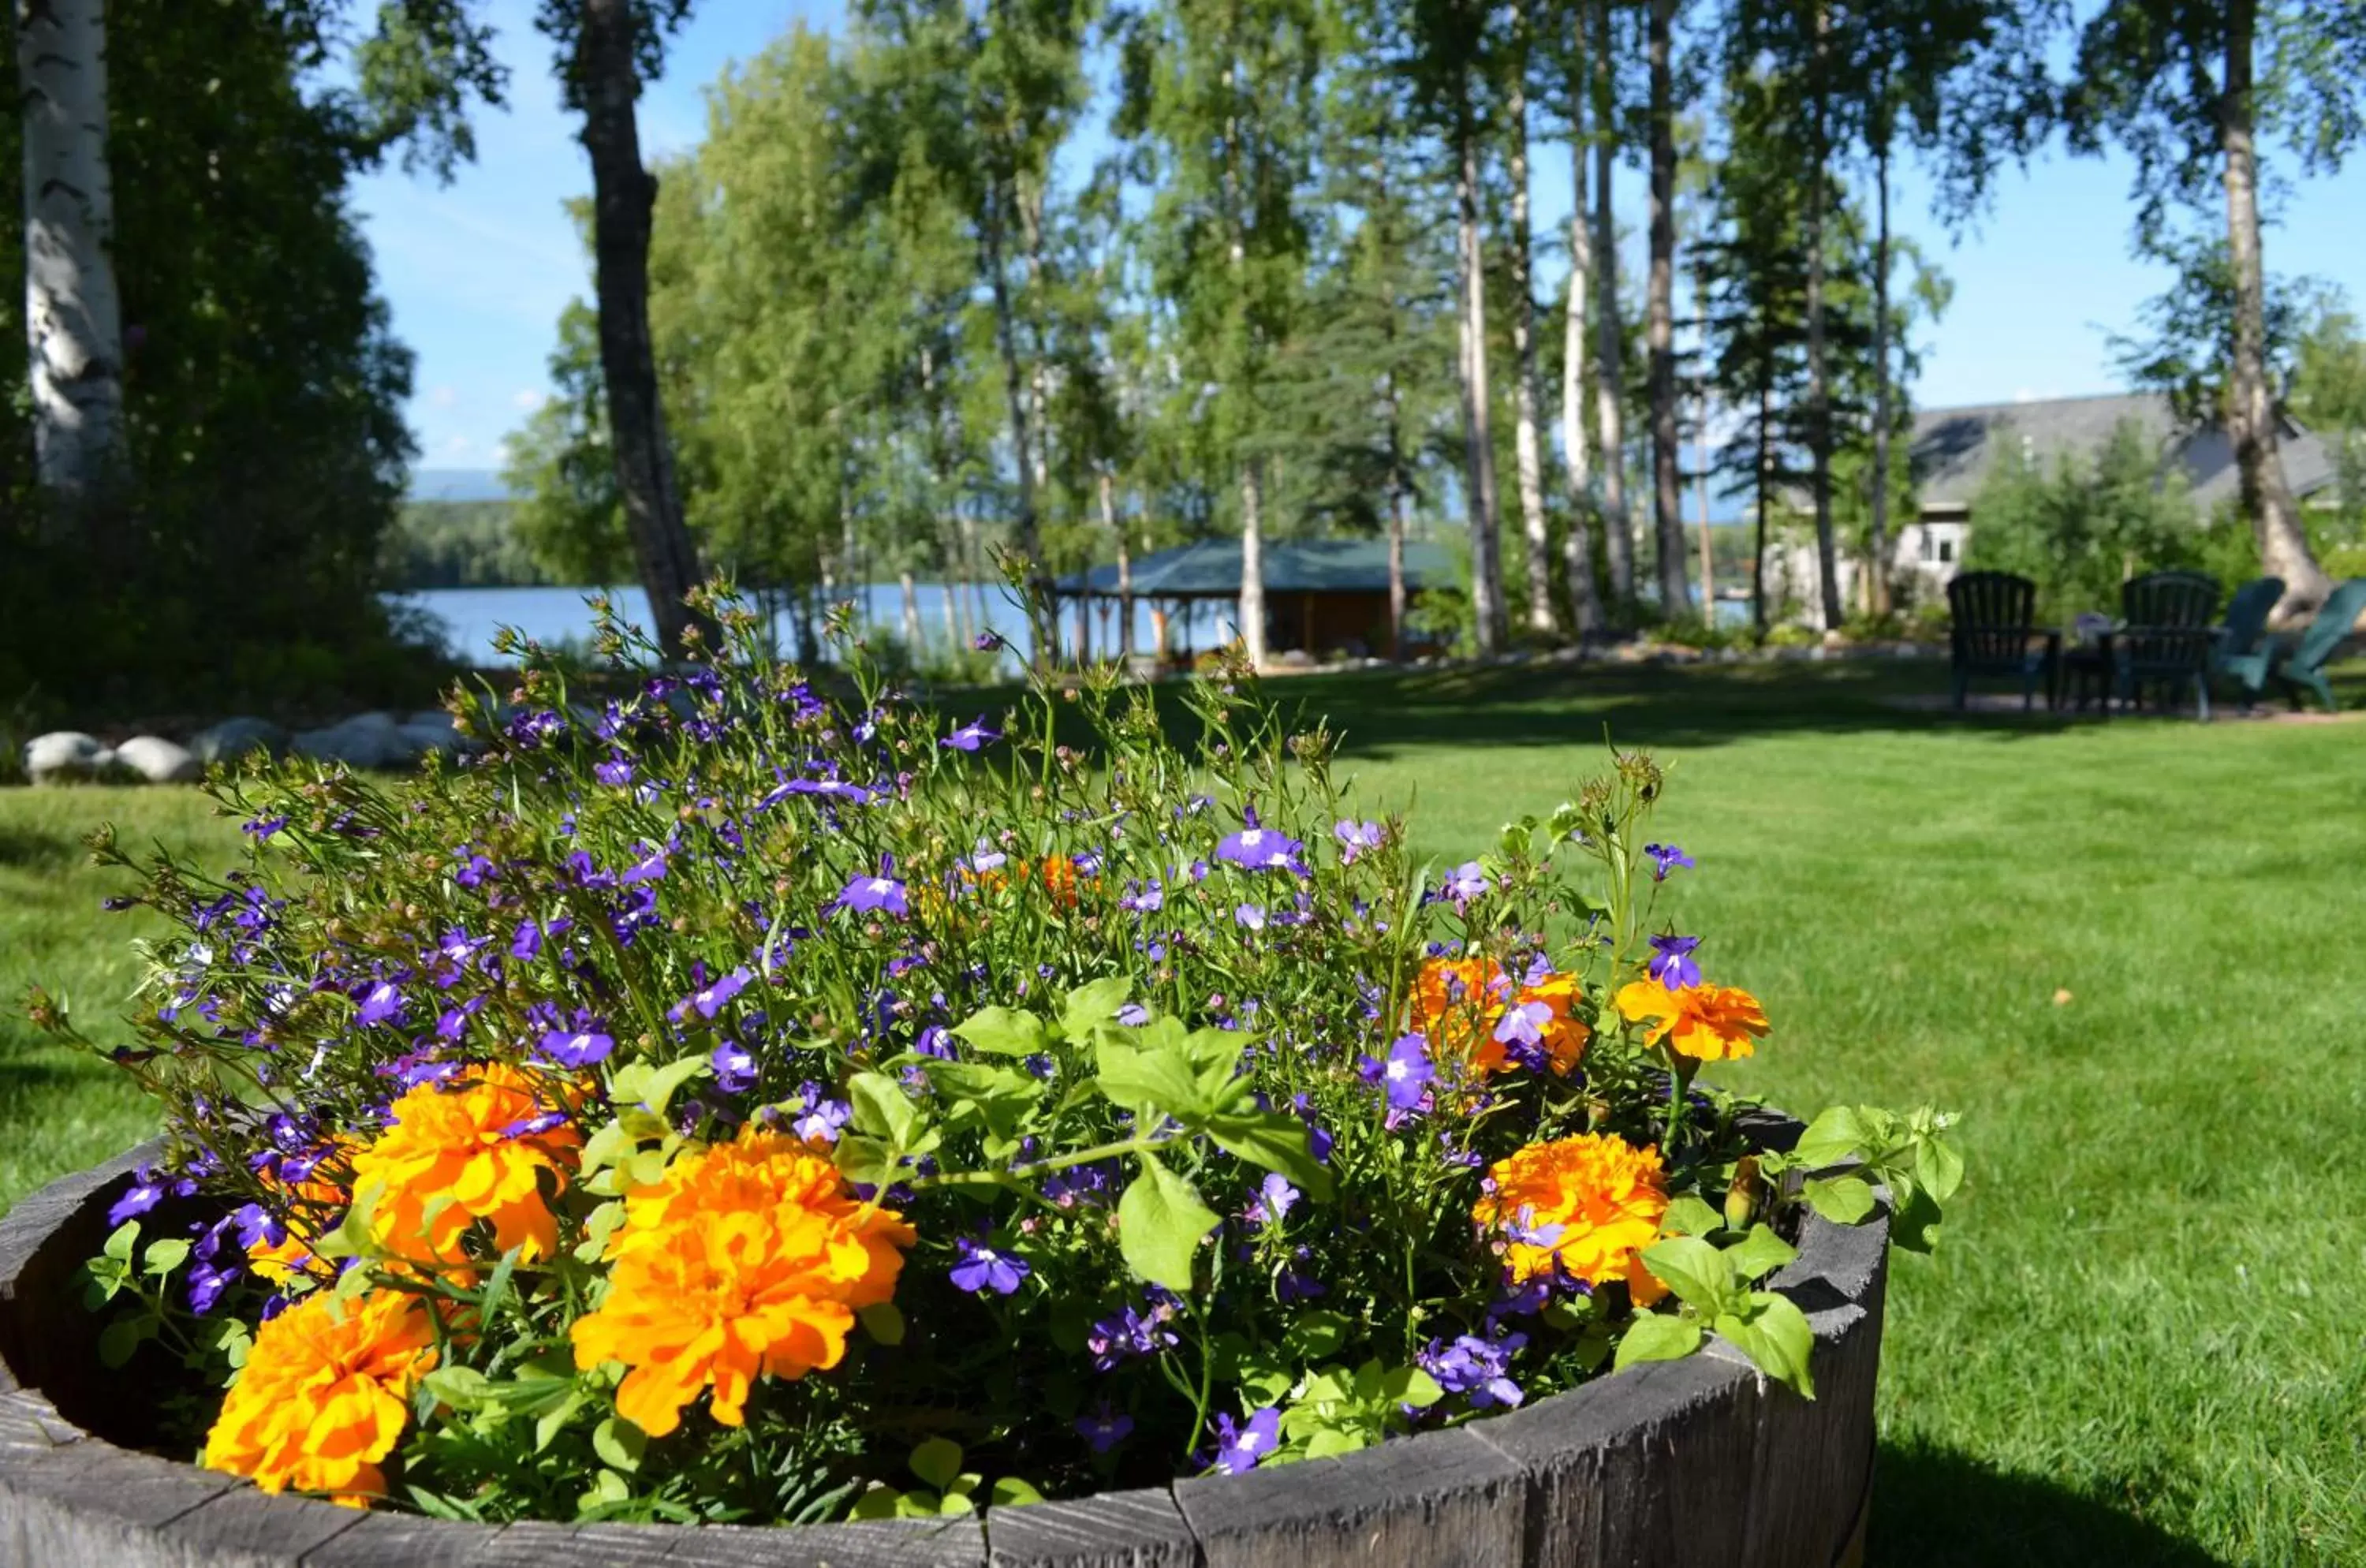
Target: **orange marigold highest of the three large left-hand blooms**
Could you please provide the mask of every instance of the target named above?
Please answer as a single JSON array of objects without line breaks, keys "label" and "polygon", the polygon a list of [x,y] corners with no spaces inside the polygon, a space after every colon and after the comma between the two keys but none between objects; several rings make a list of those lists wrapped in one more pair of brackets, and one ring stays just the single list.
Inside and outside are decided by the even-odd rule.
[{"label": "orange marigold highest of the three large left-hand blooms", "polygon": [[[558,1251],[542,1175],[565,1185],[582,1133],[554,1121],[558,1097],[516,1067],[487,1062],[445,1090],[424,1083],[393,1104],[395,1123],[353,1159],[353,1190],[376,1187],[371,1235],[395,1256],[457,1263],[468,1225],[492,1225],[502,1251]],[[549,1123],[549,1126],[547,1126]]]}]

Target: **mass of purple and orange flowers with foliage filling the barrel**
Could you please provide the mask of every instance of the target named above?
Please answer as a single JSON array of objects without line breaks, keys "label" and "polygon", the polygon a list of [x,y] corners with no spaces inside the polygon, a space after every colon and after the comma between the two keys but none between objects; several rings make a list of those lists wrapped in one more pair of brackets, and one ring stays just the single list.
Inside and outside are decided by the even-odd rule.
[{"label": "mass of purple and orange flowers with foliage filling the barrel", "polygon": [[1774,1156],[1699,1081],[1767,1019],[1663,915],[1649,757],[1431,868],[1237,665],[1178,750],[1143,688],[946,724],[719,610],[712,667],[596,710],[528,667],[476,764],[225,780],[244,866],[147,866],[182,934],[111,1055],[170,1154],[90,1277],[208,1464],[476,1518],[937,1514],[1708,1329],[1808,1393],[1760,1287],[1801,1194],[1862,1220],[1883,1180],[1921,1244],[1957,1183],[1931,1112]]}]

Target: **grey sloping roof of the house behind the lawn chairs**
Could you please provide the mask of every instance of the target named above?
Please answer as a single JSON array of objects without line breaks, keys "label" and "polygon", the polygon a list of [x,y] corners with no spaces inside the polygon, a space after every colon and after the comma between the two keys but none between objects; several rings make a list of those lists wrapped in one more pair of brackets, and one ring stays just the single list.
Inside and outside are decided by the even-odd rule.
[{"label": "grey sloping roof of the house behind the lawn chairs", "polygon": [[[1921,409],[1914,416],[1912,442],[1916,494],[1924,511],[1966,508],[2004,452],[2018,449],[2047,466],[2066,452],[2092,456],[2122,421],[2134,421],[2165,464],[2184,468],[2196,508],[2210,511],[2238,494],[2241,480],[2226,430],[2179,426],[2170,400],[2158,393]],[[2293,419],[2278,421],[2278,447],[2283,478],[2295,497],[2309,497],[2335,482],[2333,454]]]}]

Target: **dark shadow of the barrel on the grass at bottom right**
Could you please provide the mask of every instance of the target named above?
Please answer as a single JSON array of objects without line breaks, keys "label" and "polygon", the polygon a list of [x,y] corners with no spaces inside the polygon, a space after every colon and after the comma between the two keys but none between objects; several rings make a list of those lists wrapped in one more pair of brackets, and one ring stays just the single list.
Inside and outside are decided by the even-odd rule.
[{"label": "dark shadow of the barrel on the grass at bottom right", "polygon": [[2134,1514],[1928,1445],[1881,1445],[1864,1568],[2234,1568]]}]

